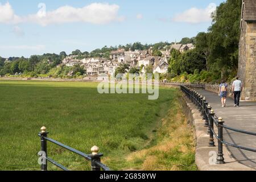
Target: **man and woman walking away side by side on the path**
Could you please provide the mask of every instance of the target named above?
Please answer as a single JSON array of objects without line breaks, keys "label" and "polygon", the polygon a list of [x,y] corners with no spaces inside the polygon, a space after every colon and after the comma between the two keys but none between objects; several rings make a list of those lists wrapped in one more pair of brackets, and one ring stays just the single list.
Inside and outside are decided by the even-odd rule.
[{"label": "man and woman walking away side by side on the path", "polygon": [[[242,82],[239,80],[239,77],[236,78],[236,81],[232,85],[232,94],[234,97],[234,107],[240,106],[240,97],[242,92]],[[228,84],[225,81],[222,81],[220,84],[219,96],[221,97],[222,107],[226,107],[226,97],[228,97]]]}]

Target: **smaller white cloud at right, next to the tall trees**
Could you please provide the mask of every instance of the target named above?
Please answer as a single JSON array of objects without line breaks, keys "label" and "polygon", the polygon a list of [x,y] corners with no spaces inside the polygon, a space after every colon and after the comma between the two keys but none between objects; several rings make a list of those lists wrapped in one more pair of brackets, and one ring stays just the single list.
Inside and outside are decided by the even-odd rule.
[{"label": "smaller white cloud at right, next to the tall trees", "polygon": [[217,5],[210,3],[205,9],[197,9],[192,7],[183,13],[177,14],[172,20],[175,22],[186,23],[203,23],[210,22],[212,20],[211,15],[216,11]]}]

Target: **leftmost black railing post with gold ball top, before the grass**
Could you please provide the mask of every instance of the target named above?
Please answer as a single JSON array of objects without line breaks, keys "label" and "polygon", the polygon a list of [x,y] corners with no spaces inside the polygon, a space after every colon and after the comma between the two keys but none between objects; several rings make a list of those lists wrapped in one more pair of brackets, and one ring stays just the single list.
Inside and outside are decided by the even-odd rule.
[{"label": "leftmost black railing post with gold ball top, before the grass", "polygon": [[42,171],[47,171],[47,140],[44,139],[44,137],[47,137],[48,132],[46,132],[46,127],[43,126],[41,127],[41,132],[40,134],[40,139],[41,139],[41,152],[40,155],[42,156],[42,160],[41,160],[41,170]]}]

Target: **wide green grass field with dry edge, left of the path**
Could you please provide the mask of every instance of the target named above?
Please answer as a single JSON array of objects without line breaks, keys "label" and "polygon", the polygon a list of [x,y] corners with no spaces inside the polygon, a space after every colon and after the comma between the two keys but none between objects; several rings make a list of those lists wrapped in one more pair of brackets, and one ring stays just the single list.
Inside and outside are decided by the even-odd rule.
[{"label": "wide green grass field with dry edge, left of the path", "polygon": [[[98,94],[97,83],[0,81],[0,170],[40,170],[42,126],[49,138],[86,154],[97,145],[114,170],[195,170],[192,130],[178,96],[160,88],[159,99],[150,101],[146,94]],[[52,144],[48,155],[69,169],[90,169]]]}]

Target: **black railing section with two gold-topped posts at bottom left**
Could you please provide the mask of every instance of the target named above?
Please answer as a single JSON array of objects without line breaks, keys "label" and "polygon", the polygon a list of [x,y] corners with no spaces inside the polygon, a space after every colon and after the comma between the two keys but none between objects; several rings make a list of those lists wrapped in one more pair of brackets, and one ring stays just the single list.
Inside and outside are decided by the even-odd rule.
[{"label": "black railing section with two gold-topped posts at bottom left", "polygon": [[74,148],[71,148],[69,146],[66,146],[63,143],[57,142],[56,140],[53,140],[51,138],[47,138],[48,132],[46,132],[46,127],[41,128],[41,132],[38,134],[38,136],[41,138],[41,151],[39,152],[40,157],[40,164],[42,171],[47,171],[47,162],[52,163],[53,165],[59,167],[60,169],[63,169],[64,171],[69,171],[67,168],[62,166],[61,164],[57,163],[55,160],[51,159],[47,155],[47,141],[56,144],[57,146],[60,146],[62,148],[65,148],[68,151],[71,151],[77,155],[82,156],[86,160],[89,160],[91,162],[91,169],[92,171],[110,171],[110,169],[105,165],[101,163],[101,157],[103,154],[98,154],[99,148],[97,146],[94,146],[91,148],[92,154],[87,155],[83,152],[80,152]]}]

